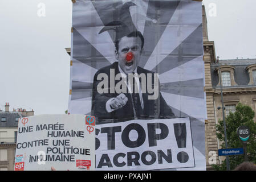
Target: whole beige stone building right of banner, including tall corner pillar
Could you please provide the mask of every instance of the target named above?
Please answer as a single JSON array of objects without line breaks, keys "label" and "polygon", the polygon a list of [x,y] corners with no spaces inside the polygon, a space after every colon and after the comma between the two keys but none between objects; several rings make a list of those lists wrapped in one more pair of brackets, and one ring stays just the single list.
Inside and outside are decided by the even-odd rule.
[{"label": "whole beige stone building right of banner, including tall corner pillar", "polygon": [[[205,121],[206,167],[220,164],[225,157],[218,156],[220,141],[216,135],[216,124],[223,119],[221,85],[225,115],[235,111],[238,102],[249,105],[256,111],[256,59],[219,60],[216,58],[214,42],[208,40],[207,19],[203,8],[205,92],[208,119]],[[220,76],[221,74],[221,76]],[[256,121],[256,118],[254,118]],[[214,159],[215,162],[213,161]]]}]

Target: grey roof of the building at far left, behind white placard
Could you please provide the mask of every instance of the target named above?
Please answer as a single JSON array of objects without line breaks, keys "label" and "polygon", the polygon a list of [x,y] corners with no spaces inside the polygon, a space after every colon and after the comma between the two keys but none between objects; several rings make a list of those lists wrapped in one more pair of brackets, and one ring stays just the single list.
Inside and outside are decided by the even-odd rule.
[{"label": "grey roof of the building at far left, behind white placard", "polygon": [[[23,115],[16,111],[0,111],[0,127],[18,127],[16,118],[20,117],[23,117]],[[5,118],[6,121],[2,121],[2,118]]]}]

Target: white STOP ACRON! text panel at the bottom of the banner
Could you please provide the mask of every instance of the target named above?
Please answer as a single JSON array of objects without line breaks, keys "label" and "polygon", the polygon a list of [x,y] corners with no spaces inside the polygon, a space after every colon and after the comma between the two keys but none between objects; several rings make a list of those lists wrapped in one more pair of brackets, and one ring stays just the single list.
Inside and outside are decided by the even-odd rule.
[{"label": "white STOP ACRON! text panel at the bottom of the banner", "polygon": [[100,151],[96,158],[98,169],[144,170],[196,165],[189,118],[133,120],[97,127],[101,131],[97,135],[100,143],[96,143]]}]

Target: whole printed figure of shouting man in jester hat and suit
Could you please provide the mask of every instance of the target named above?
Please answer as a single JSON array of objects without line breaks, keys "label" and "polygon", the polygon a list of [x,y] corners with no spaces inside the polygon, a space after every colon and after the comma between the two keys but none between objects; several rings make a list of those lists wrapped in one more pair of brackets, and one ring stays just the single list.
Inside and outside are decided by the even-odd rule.
[{"label": "whole printed figure of shouting man in jester hat and suit", "polygon": [[99,121],[175,118],[172,109],[161,96],[158,75],[138,66],[145,40],[133,26],[132,19],[129,19],[128,9],[124,8],[133,5],[131,2],[125,3],[121,7],[123,16],[120,21],[108,23],[100,31],[100,34],[115,31],[116,61],[99,69],[94,76],[92,113]]}]

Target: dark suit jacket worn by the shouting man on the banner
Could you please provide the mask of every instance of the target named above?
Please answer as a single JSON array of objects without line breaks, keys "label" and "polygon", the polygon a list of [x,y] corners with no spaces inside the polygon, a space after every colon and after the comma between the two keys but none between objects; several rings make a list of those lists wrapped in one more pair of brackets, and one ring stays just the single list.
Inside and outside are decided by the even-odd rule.
[{"label": "dark suit jacket worn by the shouting man on the banner", "polygon": [[[111,119],[110,122],[121,122],[121,121],[129,121],[134,119],[133,114],[133,106],[132,99],[130,93],[124,93],[128,98],[127,104],[123,106],[121,109],[117,109],[108,113],[105,106],[106,102],[112,98],[117,97],[118,93],[110,93],[110,69],[115,69],[115,76],[120,73],[118,68],[118,62],[115,62],[107,67],[99,69],[94,76],[94,84],[92,89],[92,112],[91,115],[95,115],[97,118],[97,122],[101,122],[105,119],[107,121]],[[100,73],[105,73],[108,75],[108,93],[100,94],[97,92],[97,84],[101,82],[101,80],[97,80],[97,76]],[[147,69],[143,69],[141,67],[137,67],[137,73],[140,75],[141,73],[152,74],[152,86],[153,86],[153,72],[148,71]],[[115,85],[119,82],[119,80],[115,80]],[[159,97],[156,100],[148,100],[148,91],[147,93],[143,93],[143,102],[144,102],[144,115],[139,119],[164,119],[164,118],[175,118],[175,115],[172,112],[172,109],[166,104],[164,98],[162,98],[160,93],[160,88],[158,89]]]}]

